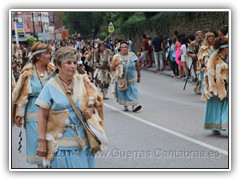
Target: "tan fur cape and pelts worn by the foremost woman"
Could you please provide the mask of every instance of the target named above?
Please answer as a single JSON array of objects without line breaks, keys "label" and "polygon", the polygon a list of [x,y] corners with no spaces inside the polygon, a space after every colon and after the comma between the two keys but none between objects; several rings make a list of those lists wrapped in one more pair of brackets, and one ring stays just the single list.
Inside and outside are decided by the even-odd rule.
[{"label": "tan fur cape and pelts worn by the foremost woman", "polygon": [[[104,133],[102,96],[100,96],[100,94],[97,92],[96,87],[90,82],[86,74],[76,74],[74,81],[76,82],[74,89],[76,88],[75,90],[78,93],[74,93],[72,96],[73,101],[75,101],[77,98],[79,99],[79,109],[82,111],[89,106],[89,97],[92,96],[94,98],[94,114],[90,119],[88,119],[88,122],[92,126],[97,127],[99,132]],[[57,89],[62,91],[56,80],[51,79],[49,83],[56,86]],[[51,109],[49,110],[46,131],[46,139],[48,141],[48,156],[44,157],[43,159],[43,164],[45,166],[49,165],[51,160],[54,158],[59,143],[62,143],[63,146],[75,146],[77,142],[78,146],[78,143],[80,143],[82,149],[84,149],[85,144],[87,144],[86,139],[83,138],[78,138],[78,141],[76,141],[76,139],[72,140],[71,138],[66,141],[64,138],[61,138],[63,132],[66,130],[67,120],[69,116],[70,114],[67,109],[63,111],[56,111]]]}]

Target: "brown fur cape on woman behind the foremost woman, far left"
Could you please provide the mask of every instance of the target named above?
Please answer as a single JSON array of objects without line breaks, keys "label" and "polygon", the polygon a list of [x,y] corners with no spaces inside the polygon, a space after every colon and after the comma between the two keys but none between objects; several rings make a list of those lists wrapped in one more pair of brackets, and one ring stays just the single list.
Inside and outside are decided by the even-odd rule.
[{"label": "brown fur cape on woman behind the foremost woman, far left", "polygon": [[[51,74],[55,66],[51,63],[47,66],[47,71]],[[31,94],[31,77],[33,75],[33,64],[29,63],[24,66],[21,75],[12,92],[12,123],[14,125],[16,116],[24,117],[25,108],[28,103],[28,96]]]}]

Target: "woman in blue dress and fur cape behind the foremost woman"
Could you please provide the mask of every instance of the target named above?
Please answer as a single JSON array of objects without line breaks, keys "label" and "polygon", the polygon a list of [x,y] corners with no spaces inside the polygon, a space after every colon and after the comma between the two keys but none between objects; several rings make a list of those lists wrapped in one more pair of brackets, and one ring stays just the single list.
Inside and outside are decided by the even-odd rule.
[{"label": "woman in blue dress and fur cape behind the foremost woman", "polygon": [[26,129],[27,162],[42,168],[42,158],[36,155],[38,145],[38,107],[34,104],[45,83],[52,77],[51,47],[36,42],[31,47],[31,61],[24,66],[13,90],[13,124]]}]

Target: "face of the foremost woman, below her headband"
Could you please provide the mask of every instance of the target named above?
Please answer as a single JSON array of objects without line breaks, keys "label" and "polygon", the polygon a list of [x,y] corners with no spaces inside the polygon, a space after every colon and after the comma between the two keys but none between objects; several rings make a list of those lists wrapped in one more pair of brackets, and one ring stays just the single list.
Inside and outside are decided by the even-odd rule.
[{"label": "face of the foremost woman, below her headband", "polygon": [[61,67],[58,68],[65,76],[73,76],[77,69],[77,60],[73,58],[65,59],[61,62]]}]

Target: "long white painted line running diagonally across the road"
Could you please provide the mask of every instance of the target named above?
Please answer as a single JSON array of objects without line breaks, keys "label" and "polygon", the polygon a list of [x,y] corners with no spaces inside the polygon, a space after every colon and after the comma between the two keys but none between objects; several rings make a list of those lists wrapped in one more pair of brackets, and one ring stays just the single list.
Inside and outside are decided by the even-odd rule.
[{"label": "long white painted line running diagonally across the road", "polygon": [[199,141],[199,140],[197,140],[197,139],[194,139],[194,138],[185,136],[185,135],[183,135],[183,134],[181,134],[181,133],[178,133],[178,132],[175,132],[175,131],[173,131],[173,130],[167,129],[167,128],[165,128],[165,127],[156,125],[156,124],[151,123],[151,122],[149,122],[149,121],[146,121],[146,120],[144,120],[144,119],[142,119],[142,118],[139,118],[139,117],[137,117],[137,116],[134,116],[134,115],[132,115],[132,114],[129,114],[129,113],[126,113],[126,112],[124,112],[124,111],[122,111],[122,110],[119,110],[119,109],[117,109],[117,108],[115,108],[115,107],[113,107],[113,106],[111,106],[111,105],[109,105],[109,104],[104,103],[104,105],[105,105],[106,107],[112,109],[112,110],[115,110],[115,111],[117,111],[117,112],[119,112],[119,113],[122,113],[122,114],[124,114],[124,115],[126,115],[126,116],[129,116],[129,117],[131,117],[131,118],[133,118],[133,119],[135,119],[135,120],[137,120],[137,121],[140,121],[140,122],[142,122],[142,123],[144,123],[144,124],[147,124],[147,125],[149,125],[149,126],[155,127],[155,128],[157,128],[157,129],[159,129],[159,130],[165,131],[165,132],[167,132],[167,133],[169,133],[169,134],[172,134],[172,135],[175,135],[175,136],[177,136],[177,137],[179,137],[179,138],[185,139],[185,140],[187,140],[187,141],[190,141],[190,142],[192,142],[192,143],[198,144],[198,145],[203,146],[203,147],[205,147],[205,148],[208,148],[208,149],[211,149],[211,150],[214,150],[214,151],[218,151],[219,153],[228,156],[228,151],[226,151],[226,150],[224,150],[224,149],[221,149],[221,148],[212,146],[212,145],[210,145],[210,144],[201,142],[201,141]]}]

